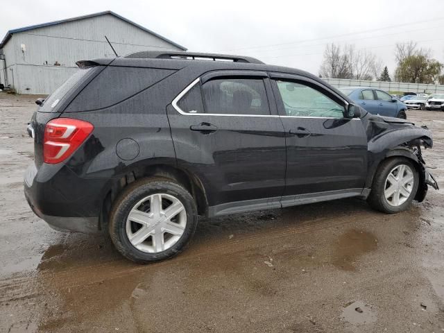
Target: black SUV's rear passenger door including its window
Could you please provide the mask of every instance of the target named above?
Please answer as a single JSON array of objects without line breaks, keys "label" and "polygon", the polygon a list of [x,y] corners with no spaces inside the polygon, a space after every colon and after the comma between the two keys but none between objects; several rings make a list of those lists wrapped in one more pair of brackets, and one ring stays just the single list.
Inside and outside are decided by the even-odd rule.
[{"label": "black SUV's rear passenger door including its window", "polygon": [[178,164],[203,182],[210,215],[280,207],[285,137],[271,94],[265,72],[218,71],[167,108]]}]

